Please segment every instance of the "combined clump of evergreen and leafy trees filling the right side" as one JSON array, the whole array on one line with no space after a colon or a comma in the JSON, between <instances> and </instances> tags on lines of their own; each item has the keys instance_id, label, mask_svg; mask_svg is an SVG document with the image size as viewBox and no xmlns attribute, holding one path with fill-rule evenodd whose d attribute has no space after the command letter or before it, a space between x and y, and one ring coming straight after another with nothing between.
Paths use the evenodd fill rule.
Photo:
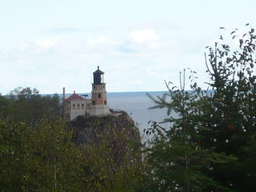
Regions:
<instances>
[{"instance_id":1,"label":"combined clump of evergreen and leafy trees filling the right side","mask_svg":"<svg viewBox=\"0 0 256 192\"><path fill-rule=\"evenodd\" d=\"M210 92L196 83L191 85L194 92L185 92L180 76L180 90L166 84L168 94L157 99L149 95L157 104L153 108L167 108L168 116L172 111L179 114L164 120L171 123L170 130L156 123L147 130L155 134L147 149L155 191L255 191L253 33L250 29L238 38L235 50L220 42L209 48L205 63ZM237 30L231 35L236 39Z\"/></svg>"}]
</instances>

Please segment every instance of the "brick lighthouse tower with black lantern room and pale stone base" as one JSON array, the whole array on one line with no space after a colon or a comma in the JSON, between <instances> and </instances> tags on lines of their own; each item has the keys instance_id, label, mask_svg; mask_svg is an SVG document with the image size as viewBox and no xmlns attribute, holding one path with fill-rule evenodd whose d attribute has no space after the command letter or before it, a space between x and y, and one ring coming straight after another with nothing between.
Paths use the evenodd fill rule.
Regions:
<instances>
[{"instance_id":1,"label":"brick lighthouse tower with black lantern room and pale stone base","mask_svg":"<svg viewBox=\"0 0 256 192\"><path fill-rule=\"evenodd\" d=\"M92 84L92 105L90 106L90 115L109 115L106 83L104 83L104 72L98 69L93 72Z\"/></svg>"}]
</instances>

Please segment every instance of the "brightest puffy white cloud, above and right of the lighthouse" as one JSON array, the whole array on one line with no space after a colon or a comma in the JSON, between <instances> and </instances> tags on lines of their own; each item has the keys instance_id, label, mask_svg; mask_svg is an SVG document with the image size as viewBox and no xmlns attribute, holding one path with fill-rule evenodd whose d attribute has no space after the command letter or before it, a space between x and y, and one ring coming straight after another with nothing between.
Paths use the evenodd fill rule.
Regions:
<instances>
[{"instance_id":1,"label":"brightest puffy white cloud, above and right of the lighthouse","mask_svg":"<svg viewBox=\"0 0 256 192\"><path fill-rule=\"evenodd\" d=\"M148 40L158 40L159 36L153 29L141 29L132 31L129 38L134 42L143 43Z\"/></svg>"}]
</instances>

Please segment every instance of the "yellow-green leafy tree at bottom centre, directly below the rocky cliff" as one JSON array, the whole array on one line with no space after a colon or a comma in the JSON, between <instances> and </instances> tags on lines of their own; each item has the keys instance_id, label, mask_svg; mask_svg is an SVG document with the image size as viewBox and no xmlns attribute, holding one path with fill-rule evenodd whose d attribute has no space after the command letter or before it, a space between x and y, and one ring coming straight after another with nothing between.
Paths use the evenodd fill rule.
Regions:
<instances>
[{"instance_id":1,"label":"yellow-green leafy tree at bottom centre, directly below the rocky cliff","mask_svg":"<svg viewBox=\"0 0 256 192\"><path fill-rule=\"evenodd\" d=\"M130 131L105 125L91 143L83 145L90 177L88 191L138 191L141 189L142 162L140 140ZM132 129L130 129L132 130Z\"/></svg>"}]
</instances>

